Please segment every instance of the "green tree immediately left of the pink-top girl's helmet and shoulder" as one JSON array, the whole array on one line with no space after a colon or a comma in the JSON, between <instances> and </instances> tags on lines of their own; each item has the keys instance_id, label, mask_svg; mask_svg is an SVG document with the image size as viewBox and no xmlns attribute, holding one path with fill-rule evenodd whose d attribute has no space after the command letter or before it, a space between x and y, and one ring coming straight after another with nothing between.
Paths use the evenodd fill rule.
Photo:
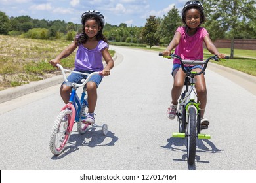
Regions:
<instances>
[{"instance_id":1,"label":"green tree immediately left of the pink-top girl's helmet and shoulder","mask_svg":"<svg viewBox=\"0 0 256 183\"><path fill-rule=\"evenodd\" d=\"M156 32L156 35L160 37L160 42L163 44L169 44L171 39L173 39L173 35L175 34L177 27L181 25L182 22L179 10L173 7L168 12L167 16L163 16L163 20L161 20L158 31Z\"/></svg>"}]
</instances>

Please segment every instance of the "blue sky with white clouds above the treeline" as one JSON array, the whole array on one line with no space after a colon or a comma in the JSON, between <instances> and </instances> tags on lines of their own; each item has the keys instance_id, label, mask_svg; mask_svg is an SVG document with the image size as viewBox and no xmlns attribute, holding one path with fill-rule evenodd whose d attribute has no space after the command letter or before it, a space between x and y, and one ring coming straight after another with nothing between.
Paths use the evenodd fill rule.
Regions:
<instances>
[{"instance_id":1,"label":"blue sky with white clouds above the treeline","mask_svg":"<svg viewBox=\"0 0 256 183\"><path fill-rule=\"evenodd\" d=\"M166 15L173 6L179 9L188 0L0 0L0 11L7 16L28 15L39 20L64 20L80 24L81 14L95 9L112 25L126 23L142 27L150 15Z\"/></svg>"}]
</instances>

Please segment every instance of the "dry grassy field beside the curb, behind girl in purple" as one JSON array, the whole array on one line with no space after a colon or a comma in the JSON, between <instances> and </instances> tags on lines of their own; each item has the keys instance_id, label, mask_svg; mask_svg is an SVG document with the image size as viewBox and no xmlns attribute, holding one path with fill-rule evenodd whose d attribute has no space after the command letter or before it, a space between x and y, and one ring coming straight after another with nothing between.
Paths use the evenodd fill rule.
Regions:
<instances>
[{"instance_id":1,"label":"dry grassy field beside the curb, behind girl in purple","mask_svg":"<svg viewBox=\"0 0 256 183\"><path fill-rule=\"evenodd\" d=\"M59 73L49 64L71 41L24 39L0 35L0 90L43 80ZM114 56L114 50L110 55ZM75 52L62 59L63 67L74 67Z\"/></svg>"}]
</instances>

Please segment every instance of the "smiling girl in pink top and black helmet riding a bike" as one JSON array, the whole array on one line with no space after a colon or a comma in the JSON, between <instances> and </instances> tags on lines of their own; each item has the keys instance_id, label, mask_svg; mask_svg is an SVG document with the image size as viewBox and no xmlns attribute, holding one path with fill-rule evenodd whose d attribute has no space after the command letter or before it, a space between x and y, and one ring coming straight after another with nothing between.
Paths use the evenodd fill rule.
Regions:
<instances>
[{"instance_id":1,"label":"smiling girl in pink top and black helmet riding a bike","mask_svg":"<svg viewBox=\"0 0 256 183\"><path fill-rule=\"evenodd\" d=\"M203 5L200 1L188 1L181 11L182 22L185 27L179 27L175 32L173 40L170 42L167 49L163 52L163 55L170 55L175 48L175 54L181 56L182 59L198 60L203 59L203 42L211 54L215 54L218 58L224 58L224 54L220 54L211 42L207 30L199 27L205 21L205 14ZM201 66L191 67L193 71L200 72ZM174 78L173 88L171 90L171 105L167 110L167 116L170 119L174 119L177 111L177 104L179 96L181 95L182 88L184 86L185 73L181 69L181 63L178 59L173 60ZM198 94L198 100L200 101L201 108L201 128L207 129L209 120L203 118L205 107L207 103L207 90L205 84L204 75L195 76L196 78L196 92Z\"/></svg>"}]
</instances>

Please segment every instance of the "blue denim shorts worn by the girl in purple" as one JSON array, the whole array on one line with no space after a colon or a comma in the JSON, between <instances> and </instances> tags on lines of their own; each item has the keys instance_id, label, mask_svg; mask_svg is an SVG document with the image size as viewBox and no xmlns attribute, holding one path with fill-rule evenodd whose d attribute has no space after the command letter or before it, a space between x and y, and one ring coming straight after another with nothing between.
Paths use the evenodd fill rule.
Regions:
<instances>
[{"instance_id":1,"label":"blue denim shorts worn by the girl in purple","mask_svg":"<svg viewBox=\"0 0 256 183\"><path fill-rule=\"evenodd\" d=\"M91 74L93 73L94 71L78 71L78 72L81 72L81 73L87 73L87 74ZM67 86L72 86L72 83L75 82L77 84L81 84L81 80L82 79L86 79L87 78L87 75L81 75L79 73L71 73L69 76L68 76L68 83L67 82L63 82L62 84L66 84ZM100 84L100 82L102 81L102 78L103 76L100 76L100 75L93 75L89 81L91 82L95 82L97 88L98 88L98 85Z\"/></svg>"}]
</instances>

